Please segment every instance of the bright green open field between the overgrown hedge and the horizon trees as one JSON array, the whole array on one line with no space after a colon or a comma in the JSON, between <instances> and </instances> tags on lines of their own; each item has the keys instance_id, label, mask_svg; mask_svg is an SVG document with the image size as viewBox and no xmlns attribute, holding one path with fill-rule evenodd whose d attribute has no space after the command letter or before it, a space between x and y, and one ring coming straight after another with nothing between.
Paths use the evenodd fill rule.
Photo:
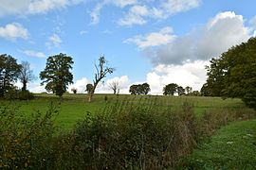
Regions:
<instances>
[{"instance_id":1,"label":"bright green open field between the overgrown hedge and the horizon trees","mask_svg":"<svg viewBox=\"0 0 256 170\"><path fill-rule=\"evenodd\" d=\"M105 100L107 96L107 100ZM96 112L103 109L111 103L119 101L129 101L132 103L145 103L150 105L152 101L156 100L160 108L170 108L176 110L182 108L184 101L192 104L196 115L202 115L207 111L221 111L221 110L243 110L247 111L244 103L237 98L223 100L220 97L198 97L198 96L139 96L139 95L113 95L113 94L95 94L94 101L88 103L87 94L64 94L60 100L55 94L35 94L35 99L28 101L0 101L0 105L11 105L18 107L24 114L31 114L36 111L42 113L46 112L50 103L59 106L59 115L56 117L56 124L71 129L78 120L86 116L86 113ZM60 105L59 105L60 104Z\"/></svg>"}]
</instances>

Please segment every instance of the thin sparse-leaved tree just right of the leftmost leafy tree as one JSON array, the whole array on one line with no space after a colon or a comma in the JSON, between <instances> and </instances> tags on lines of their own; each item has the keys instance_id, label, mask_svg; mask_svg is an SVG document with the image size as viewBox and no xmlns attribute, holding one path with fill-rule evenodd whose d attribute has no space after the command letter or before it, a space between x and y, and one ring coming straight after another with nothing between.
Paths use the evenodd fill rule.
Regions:
<instances>
[{"instance_id":1,"label":"thin sparse-leaved tree just right of the leftmost leafy tree","mask_svg":"<svg viewBox=\"0 0 256 170\"><path fill-rule=\"evenodd\" d=\"M30 69L30 64L27 61L22 61L20 68L19 79L22 82L22 91L27 91L27 83L33 80L35 76L33 75L32 70Z\"/></svg>"}]
</instances>

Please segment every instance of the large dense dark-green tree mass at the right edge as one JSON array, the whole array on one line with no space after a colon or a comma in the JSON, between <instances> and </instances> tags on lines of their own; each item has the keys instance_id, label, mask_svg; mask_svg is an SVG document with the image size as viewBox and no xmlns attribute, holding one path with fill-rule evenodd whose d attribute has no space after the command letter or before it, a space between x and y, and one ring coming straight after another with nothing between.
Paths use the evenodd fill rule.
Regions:
<instances>
[{"instance_id":1,"label":"large dense dark-green tree mass at the right edge","mask_svg":"<svg viewBox=\"0 0 256 170\"><path fill-rule=\"evenodd\" d=\"M211 59L207 90L210 95L239 97L256 110L256 38L233 46L219 59Z\"/></svg>"}]
</instances>

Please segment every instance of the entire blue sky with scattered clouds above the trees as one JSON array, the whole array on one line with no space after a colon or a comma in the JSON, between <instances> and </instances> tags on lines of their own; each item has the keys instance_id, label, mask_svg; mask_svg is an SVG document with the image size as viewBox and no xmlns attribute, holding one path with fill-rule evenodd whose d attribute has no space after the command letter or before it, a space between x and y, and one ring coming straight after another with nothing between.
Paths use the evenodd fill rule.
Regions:
<instances>
[{"instance_id":1,"label":"entire blue sky with scattered clouds above the trees","mask_svg":"<svg viewBox=\"0 0 256 170\"><path fill-rule=\"evenodd\" d=\"M49 56L73 58L74 83L85 93L101 55L116 71L96 93L147 82L151 94L177 83L200 90L206 65L256 36L255 0L0 0L0 54L28 61L35 76ZM46 92L37 77L33 93ZM20 83L17 83L20 86Z\"/></svg>"}]
</instances>

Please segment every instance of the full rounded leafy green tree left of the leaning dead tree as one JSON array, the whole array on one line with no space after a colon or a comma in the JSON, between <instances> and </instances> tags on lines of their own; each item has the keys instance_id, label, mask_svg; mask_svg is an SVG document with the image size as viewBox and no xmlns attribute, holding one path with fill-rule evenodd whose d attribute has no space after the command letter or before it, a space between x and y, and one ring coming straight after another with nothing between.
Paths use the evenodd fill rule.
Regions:
<instances>
[{"instance_id":1,"label":"full rounded leafy green tree left of the leaning dead tree","mask_svg":"<svg viewBox=\"0 0 256 170\"><path fill-rule=\"evenodd\" d=\"M43 80L41 84L46 83L47 92L63 96L68 84L73 83L73 75L69 71L73 63L72 58L63 53L48 57L46 68L40 73L40 78Z\"/></svg>"}]
</instances>

